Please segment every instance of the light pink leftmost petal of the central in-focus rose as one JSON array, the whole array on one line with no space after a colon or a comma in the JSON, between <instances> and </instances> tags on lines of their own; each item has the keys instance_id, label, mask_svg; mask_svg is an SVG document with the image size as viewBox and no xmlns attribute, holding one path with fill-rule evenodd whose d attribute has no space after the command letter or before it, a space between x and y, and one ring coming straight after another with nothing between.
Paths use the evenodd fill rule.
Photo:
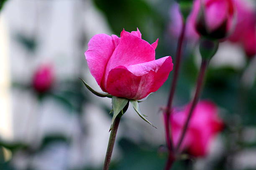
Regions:
<instances>
[{"instance_id":1,"label":"light pink leftmost petal of the central in-focus rose","mask_svg":"<svg viewBox=\"0 0 256 170\"><path fill-rule=\"evenodd\" d=\"M117 36L111 37L106 34L97 34L91 38L88 43L88 50L84 52L89 70L98 85L100 85L105 67L113 54L116 43L118 43Z\"/></svg>"}]
</instances>

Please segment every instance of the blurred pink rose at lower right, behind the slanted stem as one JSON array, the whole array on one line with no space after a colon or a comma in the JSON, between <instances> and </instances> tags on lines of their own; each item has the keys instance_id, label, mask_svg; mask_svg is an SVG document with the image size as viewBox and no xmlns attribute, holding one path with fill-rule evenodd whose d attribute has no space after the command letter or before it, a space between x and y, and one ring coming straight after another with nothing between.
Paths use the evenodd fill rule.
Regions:
<instances>
[{"instance_id":1,"label":"blurred pink rose at lower right, behind the slanted stem","mask_svg":"<svg viewBox=\"0 0 256 170\"><path fill-rule=\"evenodd\" d=\"M175 145L179 140L189 107L190 105L186 105L182 110L176 110L171 115L170 122ZM195 157L206 156L210 142L223 127L224 124L218 117L217 106L210 101L202 100L198 102L183 140L182 150Z\"/></svg>"}]
</instances>

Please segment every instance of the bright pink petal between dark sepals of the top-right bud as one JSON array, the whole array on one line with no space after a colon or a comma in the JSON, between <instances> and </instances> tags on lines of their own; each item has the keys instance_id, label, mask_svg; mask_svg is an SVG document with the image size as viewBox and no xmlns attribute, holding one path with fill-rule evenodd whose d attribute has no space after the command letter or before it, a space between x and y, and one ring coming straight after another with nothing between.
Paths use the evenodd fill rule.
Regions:
<instances>
[{"instance_id":1,"label":"bright pink petal between dark sepals of the top-right bud","mask_svg":"<svg viewBox=\"0 0 256 170\"><path fill-rule=\"evenodd\" d=\"M205 4L206 24L209 31L218 28L228 19L228 3L226 0L208 0Z\"/></svg>"}]
</instances>

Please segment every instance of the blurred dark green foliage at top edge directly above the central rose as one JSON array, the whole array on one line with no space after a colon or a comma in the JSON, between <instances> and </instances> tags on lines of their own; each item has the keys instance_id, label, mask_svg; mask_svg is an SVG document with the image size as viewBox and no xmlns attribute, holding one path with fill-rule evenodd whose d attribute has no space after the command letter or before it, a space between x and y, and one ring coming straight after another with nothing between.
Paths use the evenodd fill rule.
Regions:
<instances>
[{"instance_id":1,"label":"blurred dark green foliage at top edge directly above the central rose","mask_svg":"<svg viewBox=\"0 0 256 170\"><path fill-rule=\"evenodd\" d=\"M115 34L120 35L123 28L127 31L139 30L146 40L154 41L164 30L164 19L155 7L144 0L93 0L105 14ZM167 17L166 17L167 18ZM158 34L158 35L157 35Z\"/></svg>"}]
</instances>

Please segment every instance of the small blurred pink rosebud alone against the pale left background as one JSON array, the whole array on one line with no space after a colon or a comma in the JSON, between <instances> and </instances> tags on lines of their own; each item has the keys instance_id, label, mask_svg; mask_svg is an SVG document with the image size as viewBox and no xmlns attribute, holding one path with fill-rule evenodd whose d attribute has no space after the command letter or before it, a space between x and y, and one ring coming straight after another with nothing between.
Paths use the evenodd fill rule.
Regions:
<instances>
[{"instance_id":1,"label":"small blurred pink rosebud alone against the pale left background","mask_svg":"<svg viewBox=\"0 0 256 170\"><path fill-rule=\"evenodd\" d=\"M40 65L33 75L33 87L40 93L49 90L53 81L54 74L51 65Z\"/></svg>"}]
</instances>

